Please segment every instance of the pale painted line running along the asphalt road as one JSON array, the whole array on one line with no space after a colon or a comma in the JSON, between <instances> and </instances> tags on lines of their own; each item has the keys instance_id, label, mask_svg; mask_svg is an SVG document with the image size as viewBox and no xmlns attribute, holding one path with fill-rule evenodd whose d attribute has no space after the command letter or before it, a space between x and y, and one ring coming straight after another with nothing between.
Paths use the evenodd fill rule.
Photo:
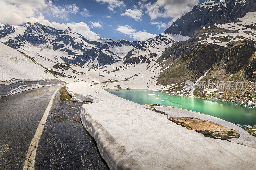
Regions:
<instances>
[{"instance_id":1,"label":"pale painted line running along the asphalt road","mask_svg":"<svg viewBox=\"0 0 256 170\"><path fill-rule=\"evenodd\" d=\"M61 87L59 87L55 92L54 94L52 95L52 98L44 112L44 115L41 119L41 121L39 122L39 125L36 129L36 132L35 132L35 135L29 145L29 148L28 148L28 152L27 152L27 156L26 156L26 159L25 159L25 163L24 163L24 166L23 166L23 170L34 170L35 169L35 158L36 158L36 149L37 149L37 146L38 146L38 142L39 142L39 139L41 137L41 134L43 132L43 129L44 129L44 124L46 122L46 119L51 111L51 107L52 107L52 102L53 102L53 99L55 97L55 94L57 93L57 91L60 89Z\"/></svg>"}]
</instances>

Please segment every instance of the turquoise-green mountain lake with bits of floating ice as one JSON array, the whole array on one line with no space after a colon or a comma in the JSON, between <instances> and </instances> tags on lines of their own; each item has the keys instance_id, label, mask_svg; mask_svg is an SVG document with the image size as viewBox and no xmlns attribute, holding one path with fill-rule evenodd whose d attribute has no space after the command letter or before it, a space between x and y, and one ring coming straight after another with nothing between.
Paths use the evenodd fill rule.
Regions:
<instances>
[{"instance_id":1,"label":"turquoise-green mountain lake with bits of floating ice","mask_svg":"<svg viewBox=\"0 0 256 170\"><path fill-rule=\"evenodd\" d=\"M144 89L105 90L138 104L159 103L161 105L174 106L212 115L231 123L250 126L256 125L256 108L240 103L173 96Z\"/></svg>"}]
</instances>

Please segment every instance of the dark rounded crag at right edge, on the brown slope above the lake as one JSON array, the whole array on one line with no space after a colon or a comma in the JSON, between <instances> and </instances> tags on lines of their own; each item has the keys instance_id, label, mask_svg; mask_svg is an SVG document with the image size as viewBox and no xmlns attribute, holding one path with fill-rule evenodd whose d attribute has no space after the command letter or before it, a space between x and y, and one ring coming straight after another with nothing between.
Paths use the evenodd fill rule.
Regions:
<instances>
[{"instance_id":1,"label":"dark rounded crag at right edge, on the brown slope above the lake","mask_svg":"<svg viewBox=\"0 0 256 170\"><path fill-rule=\"evenodd\" d=\"M226 73L234 74L249 63L248 59L255 52L254 44L253 41L233 41L227 44L221 62Z\"/></svg>"}]
</instances>

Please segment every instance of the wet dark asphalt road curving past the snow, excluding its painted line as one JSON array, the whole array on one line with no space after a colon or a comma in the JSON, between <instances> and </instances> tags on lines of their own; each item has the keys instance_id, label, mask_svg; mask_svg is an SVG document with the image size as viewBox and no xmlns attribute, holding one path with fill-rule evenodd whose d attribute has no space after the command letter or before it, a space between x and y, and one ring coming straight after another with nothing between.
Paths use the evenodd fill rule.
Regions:
<instances>
[{"instance_id":1,"label":"wet dark asphalt road curving past the snow, excluding its painted line","mask_svg":"<svg viewBox=\"0 0 256 170\"><path fill-rule=\"evenodd\" d=\"M36 128L53 93L61 86L40 87L0 98L1 170L23 168ZM39 140L35 169L107 169L95 141L79 122L81 104L71 102L68 96L65 100L60 99L59 90ZM67 111L70 114L63 119L60 115Z\"/></svg>"}]
</instances>

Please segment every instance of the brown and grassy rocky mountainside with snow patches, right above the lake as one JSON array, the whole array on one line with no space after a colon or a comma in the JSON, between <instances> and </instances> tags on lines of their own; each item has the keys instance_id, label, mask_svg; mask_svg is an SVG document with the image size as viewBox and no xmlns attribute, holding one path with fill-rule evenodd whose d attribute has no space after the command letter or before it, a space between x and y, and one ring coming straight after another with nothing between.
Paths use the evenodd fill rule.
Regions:
<instances>
[{"instance_id":1,"label":"brown and grassy rocky mountainside with snow patches, right above the lake","mask_svg":"<svg viewBox=\"0 0 256 170\"><path fill-rule=\"evenodd\" d=\"M163 68L157 84L172 94L199 98L255 103L256 12L236 22L211 23L195 31L186 41L175 42L156 60ZM194 83L192 91L184 82ZM198 82L214 82L214 88L198 88ZM243 89L217 87L217 82L243 82Z\"/></svg>"}]
</instances>

